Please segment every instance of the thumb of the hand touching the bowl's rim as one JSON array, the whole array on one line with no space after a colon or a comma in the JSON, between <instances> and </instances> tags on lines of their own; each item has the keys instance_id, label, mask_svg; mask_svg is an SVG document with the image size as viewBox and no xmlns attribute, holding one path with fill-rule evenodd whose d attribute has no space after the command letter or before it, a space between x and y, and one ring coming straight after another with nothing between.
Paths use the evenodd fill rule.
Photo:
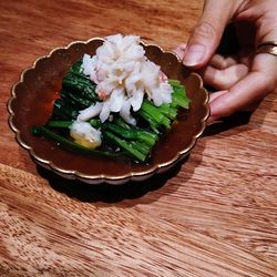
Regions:
<instances>
[{"instance_id":1,"label":"thumb of the hand touching the bowl's rim","mask_svg":"<svg viewBox=\"0 0 277 277\"><path fill-rule=\"evenodd\" d=\"M202 17L187 41L183 63L195 69L205 65L215 53L225 27L237 7L230 0L206 0Z\"/></svg>"}]
</instances>

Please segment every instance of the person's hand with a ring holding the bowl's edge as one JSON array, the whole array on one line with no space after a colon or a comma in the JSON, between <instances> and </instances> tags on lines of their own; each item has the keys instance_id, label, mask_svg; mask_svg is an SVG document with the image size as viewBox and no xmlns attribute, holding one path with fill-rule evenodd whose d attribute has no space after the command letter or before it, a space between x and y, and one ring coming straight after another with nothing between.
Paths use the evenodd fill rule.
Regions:
<instances>
[{"instance_id":1,"label":"person's hand with a ring holding the bowl's edge","mask_svg":"<svg viewBox=\"0 0 277 277\"><path fill-rule=\"evenodd\" d=\"M233 22L240 50L216 53L226 25ZM209 123L237 111L254 110L275 90L277 57L257 53L266 41L277 41L276 0L206 0L187 43L175 52L186 66L199 71L211 94Z\"/></svg>"}]
</instances>

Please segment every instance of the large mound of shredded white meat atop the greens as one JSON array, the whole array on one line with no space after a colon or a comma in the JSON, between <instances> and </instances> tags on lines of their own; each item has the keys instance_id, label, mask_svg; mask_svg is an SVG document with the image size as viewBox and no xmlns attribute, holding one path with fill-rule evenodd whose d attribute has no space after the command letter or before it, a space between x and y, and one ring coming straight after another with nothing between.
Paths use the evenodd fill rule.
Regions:
<instances>
[{"instance_id":1,"label":"large mound of shredded white meat atop the greens","mask_svg":"<svg viewBox=\"0 0 277 277\"><path fill-rule=\"evenodd\" d=\"M172 101L166 75L146 58L137 35L106 37L95 55L83 55L82 70L96 84L100 101L81 111L78 120L99 115L105 122L116 112L135 125L131 111L141 109L145 94L156 106Z\"/></svg>"}]
</instances>

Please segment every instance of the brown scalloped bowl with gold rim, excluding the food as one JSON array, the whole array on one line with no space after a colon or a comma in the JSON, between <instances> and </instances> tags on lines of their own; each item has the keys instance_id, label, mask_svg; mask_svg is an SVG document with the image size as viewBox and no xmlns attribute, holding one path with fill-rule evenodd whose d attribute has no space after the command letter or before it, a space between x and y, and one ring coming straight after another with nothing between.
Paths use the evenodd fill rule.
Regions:
<instances>
[{"instance_id":1,"label":"brown scalloped bowl with gold rim, excluding the food","mask_svg":"<svg viewBox=\"0 0 277 277\"><path fill-rule=\"evenodd\" d=\"M12 88L8 103L9 124L19 144L29 151L34 162L66 178L78 178L90 184L143 181L170 170L191 152L205 129L209 113L208 93L199 75L191 73L174 53L163 51L157 45L142 42L147 58L160 64L168 78L178 79L192 102L189 110L179 112L178 124L158 142L150 164L134 164L127 158L81 156L60 148L53 141L30 133L32 126L48 122L53 100L58 96L62 78L69 68L84 53L95 53L102 43L102 39L94 38L54 49L22 72L20 81Z\"/></svg>"}]
</instances>

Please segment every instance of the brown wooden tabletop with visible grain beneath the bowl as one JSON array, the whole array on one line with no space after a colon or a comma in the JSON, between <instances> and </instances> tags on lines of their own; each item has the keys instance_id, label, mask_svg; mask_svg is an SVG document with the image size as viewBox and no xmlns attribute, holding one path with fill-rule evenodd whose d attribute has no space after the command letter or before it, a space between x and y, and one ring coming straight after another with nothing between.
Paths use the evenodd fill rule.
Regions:
<instances>
[{"instance_id":1,"label":"brown wooden tabletop with visible grain beneath the bowl","mask_svg":"<svg viewBox=\"0 0 277 277\"><path fill-rule=\"evenodd\" d=\"M186 41L203 1L0 1L0 276L277 276L276 91L165 176L120 187L35 166L8 126L21 71L74 40Z\"/></svg>"}]
</instances>

